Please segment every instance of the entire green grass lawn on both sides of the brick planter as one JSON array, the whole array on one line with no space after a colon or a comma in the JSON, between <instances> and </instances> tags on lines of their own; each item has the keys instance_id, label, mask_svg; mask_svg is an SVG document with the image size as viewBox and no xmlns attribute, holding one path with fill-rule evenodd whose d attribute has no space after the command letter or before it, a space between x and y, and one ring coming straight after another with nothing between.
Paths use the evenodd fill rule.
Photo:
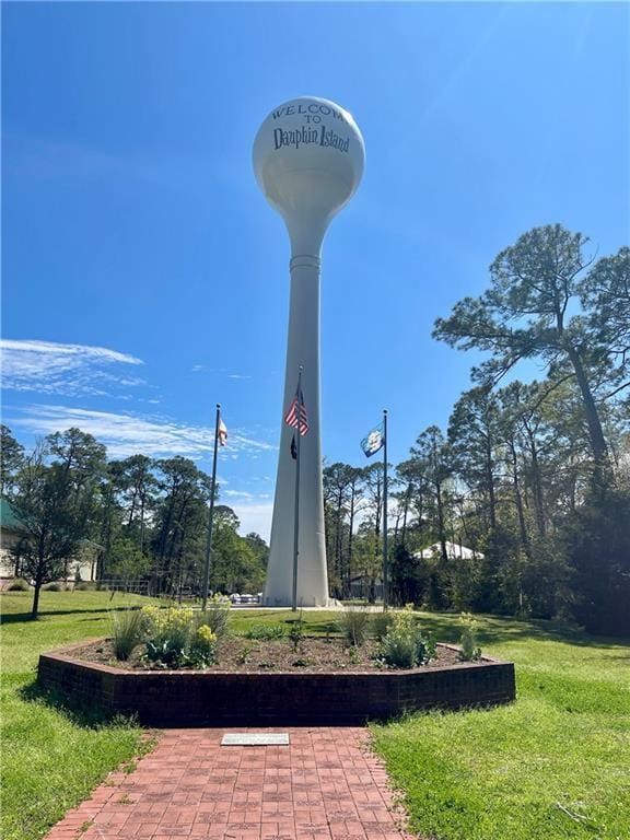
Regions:
<instances>
[{"instance_id":1,"label":"entire green grass lawn on both sides of the brick planter","mask_svg":"<svg viewBox=\"0 0 630 840\"><path fill-rule=\"evenodd\" d=\"M33 698L42 651L108 633L108 609L139 597L43 593L1 596L4 840L34 840L141 748L128 724L86 725ZM231 625L292 620L290 610L234 610ZM305 611L308 632L335 630L335 612ZM420 615L441 641L456 618ZM479 618L486 653L516 663L518 700L488 711L419 714L373 725L411 816L439 840L630 838L630 646L557 622Z\"/></svg>"}]
</instances>

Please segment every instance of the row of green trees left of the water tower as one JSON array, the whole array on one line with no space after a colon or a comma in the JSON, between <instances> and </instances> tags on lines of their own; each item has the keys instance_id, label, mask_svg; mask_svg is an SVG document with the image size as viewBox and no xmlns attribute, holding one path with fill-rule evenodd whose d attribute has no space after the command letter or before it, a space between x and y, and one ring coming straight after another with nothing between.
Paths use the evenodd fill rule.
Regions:
<instances>
[{"instance_id":1,"label":"row of green trees left of the water tower","mask_svg":"<svg viewBox=\"0 0 630 840\"><path fill-rule=\"evenodd\" d=\"M14 572L39 592L91 561L98 581L142 579L153 594L196 594L208 538L210 477L180 456L107 459L106 447L80 429L56 432L32 452L2 425L1 492L19 524ZM257 592L268 548L241 537L226 505L214 506L210 586Z\"/></svg>"}]
</instances>

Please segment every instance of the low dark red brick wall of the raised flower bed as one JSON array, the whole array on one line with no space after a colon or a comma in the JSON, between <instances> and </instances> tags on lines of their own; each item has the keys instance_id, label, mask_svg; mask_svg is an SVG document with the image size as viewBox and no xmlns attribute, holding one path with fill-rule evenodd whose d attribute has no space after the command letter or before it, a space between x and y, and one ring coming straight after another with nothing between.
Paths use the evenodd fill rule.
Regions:
<instances>
[{"instance_id":1,"label":"low dark red brick wall of the raised flower bed","mask_svg":"<svg viewBox=\"0 0 630 840\"><path fill-rule=\"evenodd\" d=\"M43 654L39 686L70 705L137 714L151 726L355 725L422 709L506 703L516 695L514 665L488 657L370 674L142 672L73 658L81 646Z\"/></svg>"}]
</instances>

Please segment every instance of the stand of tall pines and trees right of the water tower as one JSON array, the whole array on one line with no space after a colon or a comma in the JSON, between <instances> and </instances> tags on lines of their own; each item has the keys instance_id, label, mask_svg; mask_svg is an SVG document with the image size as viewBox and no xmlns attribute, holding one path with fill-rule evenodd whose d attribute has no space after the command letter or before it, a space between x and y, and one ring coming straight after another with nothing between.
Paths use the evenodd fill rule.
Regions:
<instances>
[{"instance_id":1,"label":"stand of tall pines and trees right of the water tower","mask_svg":"<svg viewBox=\"0 0 630 840\"><path fill-rule=\"evenodd\" d=\"M560 225L534 229L499 254L479 298L435 322L434 338L487 358L447 428L423 430L394 468L398 603L630 633L630 249L595 259L586 246ZM542 377L515 378L524 360ZM361 580L370 597L382 467L332 464L324 480L332 587L347 597Z\"/></svg>"}]
</instances>

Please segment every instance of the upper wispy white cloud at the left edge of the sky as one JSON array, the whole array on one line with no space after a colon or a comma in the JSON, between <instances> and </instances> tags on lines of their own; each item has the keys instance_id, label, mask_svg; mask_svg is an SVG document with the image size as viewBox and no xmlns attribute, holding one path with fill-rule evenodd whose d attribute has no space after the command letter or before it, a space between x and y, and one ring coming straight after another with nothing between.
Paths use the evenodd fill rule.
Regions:
<instances>
[{"instance_id":1,"label":"upper wispy white cloud at the left edge of the sky","mask_svg":"<svg viewBox=\"0 0 630 840\"><path fill-rule=\"evenodd\" d=\"M2 339L2 385L11 390L40 394L110 395L117 387L142 385L143 380L104 369L142 364L141 359L105 347L52 341Z\"/></svg>"}]
</instances>

